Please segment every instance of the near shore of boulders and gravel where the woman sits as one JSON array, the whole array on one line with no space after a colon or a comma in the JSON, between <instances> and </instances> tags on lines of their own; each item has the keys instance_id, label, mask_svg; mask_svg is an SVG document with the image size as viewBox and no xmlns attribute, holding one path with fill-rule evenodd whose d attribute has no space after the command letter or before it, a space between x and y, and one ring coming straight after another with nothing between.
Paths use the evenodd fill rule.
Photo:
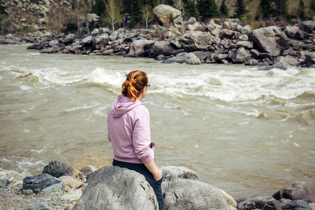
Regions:
<instances>
[{"instance_id":1,"label":"near shore of boulders and gravel where the woman sits","mask_svg":"<svg viewBox=\"0 0 315 210\"><path fill-rule=\"evenodd\" d=\"M315 209L315 189L297 182L268 194L234 199L224 190L199 180L185 167L167 166L162 188L171 209ZM0 168L0 209L157 209L152 188L145 178L117 166L101 169L88 165L80 171L51 161L42 174L25 176ZM176 196L176 199L174 199ZM136 200L136 202L134 201ZM130 207L131 206L131 207Z\"/></svg>"}]
</instances>

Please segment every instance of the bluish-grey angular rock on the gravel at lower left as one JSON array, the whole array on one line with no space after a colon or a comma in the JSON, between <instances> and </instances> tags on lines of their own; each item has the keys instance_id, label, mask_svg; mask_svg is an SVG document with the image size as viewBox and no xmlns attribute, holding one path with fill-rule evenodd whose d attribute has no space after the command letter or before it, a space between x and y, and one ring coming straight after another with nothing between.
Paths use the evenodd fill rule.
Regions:
<instances>
[{"instance_id":1,"label":"bluish-grey angular rock on the gravel at lower left","mask_svg":"<svg viewBox=\"0 0 315 210\"><path fill-rule=\"evenodd\" d=\"M36 176L27 176L23 180L22 193L29 195L31 193L51 193L63 191L64 184L50 174L39 174Z\"/></svg>"}]
</instances>

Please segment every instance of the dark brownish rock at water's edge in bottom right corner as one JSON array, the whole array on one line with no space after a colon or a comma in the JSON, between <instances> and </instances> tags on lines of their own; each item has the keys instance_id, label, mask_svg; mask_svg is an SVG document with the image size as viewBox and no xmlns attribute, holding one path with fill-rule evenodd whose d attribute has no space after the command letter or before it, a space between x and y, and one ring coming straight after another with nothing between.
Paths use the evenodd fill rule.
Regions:
<instances>
[{"instance_id":1,"label":"dark brownish rock at water's edge in bottom right corner","mask_svg":"<svg viewBox=\"0 0 315 210\"><path fill-rule=\"evenodd\" d=\"M308 203L315 202L315 189L306 182L295 182L287 188L281 189L272 195L275 199L286 198L290 200L304 200Z\"/></svg>"}]
</instances>

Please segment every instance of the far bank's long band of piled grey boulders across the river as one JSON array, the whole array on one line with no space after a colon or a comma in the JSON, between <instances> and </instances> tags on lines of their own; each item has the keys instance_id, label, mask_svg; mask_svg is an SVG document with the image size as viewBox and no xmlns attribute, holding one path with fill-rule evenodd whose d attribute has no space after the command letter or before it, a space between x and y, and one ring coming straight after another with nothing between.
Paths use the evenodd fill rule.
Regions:
<instances>
[{"instance_id":1,"label":"far bank's long band of piled grey boulders across the river","mask_svg":"<svg viewBox=\"0 0 315 210\"><path fill-rule=\"evenodd\" d=\"M220 63L265 66L281 69L290 66L315 67L315 17L294 26L270 26L252 30L238 19L207 25L195 18L178 27L153 25L151 30L120 28L94 29L83 38L75 34L33 34L27 38L12 35L0 44L32 43L28 49L41 53L121 55L148 57L164 63Z\"/></svg>"}]
</instances>

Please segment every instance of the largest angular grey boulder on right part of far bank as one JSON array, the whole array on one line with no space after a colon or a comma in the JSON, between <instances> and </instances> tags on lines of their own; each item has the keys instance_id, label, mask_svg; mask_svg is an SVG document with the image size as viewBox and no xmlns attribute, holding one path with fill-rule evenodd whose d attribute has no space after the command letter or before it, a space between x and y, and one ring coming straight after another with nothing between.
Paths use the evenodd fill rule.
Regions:
<instances>
[{"instance_id":1,"label":"largest angular grey boulder on right part of far bank","mask_svg":"<svg viewBox=\"0 0 315 210\"><path fill-rule=\"evenodd\" d=\"M289 48L289 39L279 27L270 26L256 29L249 34L249 40L262 51L272 57L280 55L281 50Z\"/></svg>"}]
</instances>

